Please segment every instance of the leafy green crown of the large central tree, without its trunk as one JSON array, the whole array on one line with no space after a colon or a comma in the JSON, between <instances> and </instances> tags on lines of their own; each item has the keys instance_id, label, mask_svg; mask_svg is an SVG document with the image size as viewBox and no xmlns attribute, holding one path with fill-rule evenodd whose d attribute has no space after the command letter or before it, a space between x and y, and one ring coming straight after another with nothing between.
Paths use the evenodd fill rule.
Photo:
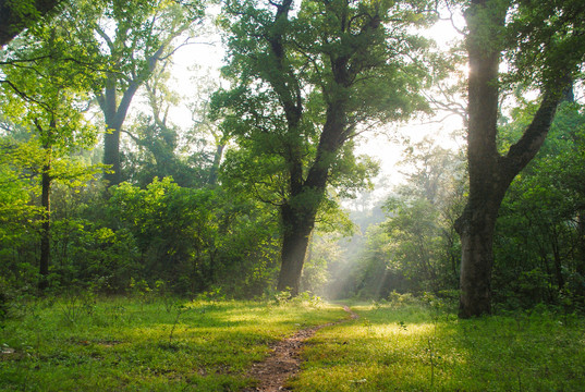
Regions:
<instances>
[{"instance_id":1,"label":"leafy green crown of the large central tree, without its trunk","mask_svg":"<svg viewBox=\"0 0 585 392\"><path fill-rule=\"evenodd\" d=\"M424 109L425 105L416 95L416 89L424 82L395 75L401 73L424 78L421 64L406 58L416 58L426 42L414 36L401 40L398 36L402 32L397 32L397 37L390 36L383 28L367 32L367 15L379 17L380 23L392 20L397 23L397 30L403 25L428 23L428 17L417 5L397 4L392 8L385 3L368 9L361 4L342 10L342 2L330 7L319 1L303 2L297 16L290 21L279 20L273 23L273 30L267 32L275 36L275 40L282 39L285 59L279 60L270 58L269 36L256 39L251 35L251 32L268 28L272 19L270 10L254 2L228 4L222 25L231 33L226 38L231 64L223 69L223 73L234 79L236 87L231 91L220 90L214 98L217 109L229 108L223 113L223 126L237 137L240 147L228 156L228 175L234 176L241 186L251 188L259 199L272 204L281 205L291 197L308 198L308 195L291 195L288 172L291 166L301 164L301 180L306 179L316 159L320 159L316 154L322 137L327 105L337 94L349 100L348 135L340 136L348 140L358 133L355 127L368 126L376 121L401 120L414 110ZM283 3L281 7L284 10L289 5ZM328 7L330 9L326 12ZM348 32L340 30L336 23L343 12L355 14L355 25ZM359 26L363 34L358 34ZM383 42L383 37L393 46ZM366 42L367 48L364 46L362 51L356 50ZM337 85L339 81L336 82L331 68L334 59L344 59L345 52L355 81L341 86ZM383 65L388 59L392 63ZM279 61L284 63L278 65ZM402 93L398 94L398 90ZM298 91L310 94L298 95ZM296 110L303 112L298 126L288 123L291 115L287 113L288 99L292 100L293 96L300 100L295 103L300 105ZM367 157L354 156L353 147L353 143L346 143L334 151L324 151L332 157L327 158L328 163L318 163L330 168L330 184L345 196L364 187L376 168ZM291 156L291 149L303 157L301 162L293 162L296 158Z\"/></svg>"}]
</instances>

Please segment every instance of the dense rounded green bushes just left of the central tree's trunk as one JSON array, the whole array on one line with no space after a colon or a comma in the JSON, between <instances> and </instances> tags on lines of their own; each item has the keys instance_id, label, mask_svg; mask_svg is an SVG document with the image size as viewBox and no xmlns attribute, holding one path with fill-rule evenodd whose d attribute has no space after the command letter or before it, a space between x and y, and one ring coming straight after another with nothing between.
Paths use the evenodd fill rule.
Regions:
<instances>
[{"instance_id":1,"label":"dense rounded green bushes just left of the central tree's trunk","mask_svg":"<svg viewBox=\"0 0 585 392\"><path fill-rule=\"evenodd\" d=\"M243 213L243 207L230 205L216 191L182 188L170 179L155 179L146 189L121 184L109 205L117 225L136 238L142 270L149 280L172 281L182 293L197 293L221 284L220 278L234 268L261 270L255 249L263 241L269 244L268 232L248 226L252 217ZM247 255L254 255L256 266L246 265ZM249 279L258 279L256 284L267 278L254 275Z\"/></svg>"}]
</instances>

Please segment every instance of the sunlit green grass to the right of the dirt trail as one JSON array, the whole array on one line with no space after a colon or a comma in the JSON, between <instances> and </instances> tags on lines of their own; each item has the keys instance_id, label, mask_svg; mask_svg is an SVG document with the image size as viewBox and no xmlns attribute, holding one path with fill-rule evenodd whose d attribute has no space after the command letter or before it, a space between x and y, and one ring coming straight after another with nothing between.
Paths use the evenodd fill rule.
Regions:
<instances>
[{"instance_id":1,"label":"sunlit green grass to the right of the dirt trail","mask_svg":"<svg viewBox=\"0 0 585 392\"><path fill-rule=\"evenodd\" d=\"M419 305L352 307L321 330L295 391L583 391L585 322L546 310L458 320Z\"/></svg>"}]
</instances>

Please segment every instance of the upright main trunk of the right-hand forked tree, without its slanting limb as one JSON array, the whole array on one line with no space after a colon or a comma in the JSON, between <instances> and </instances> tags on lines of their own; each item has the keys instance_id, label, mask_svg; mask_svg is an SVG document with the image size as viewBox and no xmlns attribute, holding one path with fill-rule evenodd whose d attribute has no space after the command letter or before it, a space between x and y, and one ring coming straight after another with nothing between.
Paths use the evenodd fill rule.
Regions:
<instances>
[{"instance_id":1,"label":"upright main trunk of the right-hand forked tree, without its slanting limb","mask_svg":"<svg viewBox=\"0 0 585 392\"><path fill-rule=\"evenodd\" d=\"M470 197L463 216L456 222L462 246L460 317L491 313L491 249L496 216L501 201L501 198L493 200L492 188L498 182L496 134L500 51L497 47L487 48L480 41L482 37L477 36L482 25L475 17L476 13L483 13L483 5L472 5L467 14ZM480 15L478 19L482 22Z\"/></svg>"}]
</instances>

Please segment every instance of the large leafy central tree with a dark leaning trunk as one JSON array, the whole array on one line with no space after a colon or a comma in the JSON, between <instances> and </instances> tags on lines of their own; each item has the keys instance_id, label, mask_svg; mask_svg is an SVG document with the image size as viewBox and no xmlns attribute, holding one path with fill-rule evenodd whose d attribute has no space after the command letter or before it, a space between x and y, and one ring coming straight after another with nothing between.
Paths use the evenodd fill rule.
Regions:
<instances>
[{"instance_id":1,"label":"large leafy central tree with a dark leaning trunk","mask_svg":"<svg viewBox=\"0 0 585 392\"><path fill-rule=\"evenodd\" d=\"M428 23L424 2L292 0L228 2L231 91L224 127L240 151L227 169L278 206L281 269L278 290L295 295L310 232L328 205L328 186L357 188L371 164L353 139L374 124L424 109L417 91L426 42L409 28Z\"/></svg>"}]
</instances>

